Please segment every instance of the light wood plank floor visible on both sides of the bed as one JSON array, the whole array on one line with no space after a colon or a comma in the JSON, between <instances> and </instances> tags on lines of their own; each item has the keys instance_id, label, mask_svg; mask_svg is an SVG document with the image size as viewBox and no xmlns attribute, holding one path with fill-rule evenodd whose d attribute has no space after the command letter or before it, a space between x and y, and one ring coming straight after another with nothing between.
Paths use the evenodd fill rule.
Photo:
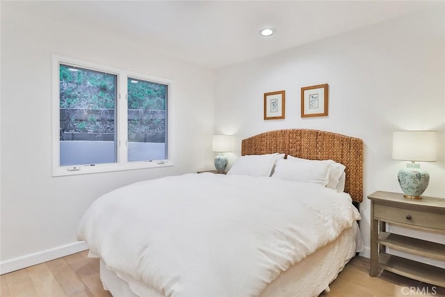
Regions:
<instances>
[{"instance_id":1,"label":"light wood plank floor visible on both sides of the bed","mask_svg":"<svg viewBox=\"0 0 445 297\"><path fill-rule=\"evenodd\" d=\"M1 297L111 296L102 288L99 260L88 251L55 259L1 275ZM330 285L323 297L442 296L445 288L416 282L384 271L380 278L369 276L369 259L355 257ZM445 275L444 275L445 277ZM412 287L412 288L411 288ZM419 289L416 289L419 288ZM411 290L411 291L410 291ZM412 291L414 290L414 291ZM415 294L414 294L415 293ZM296 296L299 297L299 296Z\"/></svg>"}]
</instances>

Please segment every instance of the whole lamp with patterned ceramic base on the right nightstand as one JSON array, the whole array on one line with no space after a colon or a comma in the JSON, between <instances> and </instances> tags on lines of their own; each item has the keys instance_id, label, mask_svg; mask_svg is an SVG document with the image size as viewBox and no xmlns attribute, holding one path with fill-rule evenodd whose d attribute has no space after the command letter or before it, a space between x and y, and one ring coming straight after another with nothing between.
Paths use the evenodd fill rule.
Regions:
<instances>
[{"instance_id":1,"label":"whole lamp with patterned ceramic base on the right nightstand","mask_svg":"<svg viewBox=\"0 0 445 297\"><path fill-rule=\"evenodd\" d=\"M392 159L411 161L398 171L403 197L421 199L430 175L415 161L437 161L437 131L396 131L392 136Z\"/></svg>"}]
</instances>

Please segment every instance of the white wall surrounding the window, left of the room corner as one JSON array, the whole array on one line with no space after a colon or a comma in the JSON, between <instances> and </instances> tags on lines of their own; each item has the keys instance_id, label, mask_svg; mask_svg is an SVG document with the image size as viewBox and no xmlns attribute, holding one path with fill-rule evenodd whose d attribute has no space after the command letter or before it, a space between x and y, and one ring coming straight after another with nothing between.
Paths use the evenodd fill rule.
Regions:
<instances>
[{"instance_id":1,"label":"white wall surrounding the window, left of the room corner","mask_svg":"<svg viewBox=\"0 0 445 297\"><path fill-rule=\"evenodd\" d=\"M86 208L113 188L211 168L214 74L135 40L59 18L27 3L1 3L1 262L70 247ZM42 3L44 5L44 3ZM54 19L53 19L54 17ZM175 166L51 177L51 55L172 80ZM38 255L35 255L37 253ZM32 254L32 255L31 255ZM20 262L20 261L19 261Z\"/></svg>"}]
</instances>

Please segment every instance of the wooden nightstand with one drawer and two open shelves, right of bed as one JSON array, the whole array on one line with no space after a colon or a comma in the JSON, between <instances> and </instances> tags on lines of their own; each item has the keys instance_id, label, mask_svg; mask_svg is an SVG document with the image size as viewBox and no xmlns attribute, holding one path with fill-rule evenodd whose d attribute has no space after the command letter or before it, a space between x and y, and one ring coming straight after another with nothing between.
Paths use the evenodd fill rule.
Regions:
<instances>
[{"instance_id":1,"label":"wooden nightstand with one drawer and two open shelves, right of bed","mask_svg":"<svg viewBox=\"0 0 445 297\"><path fill-rule=\"evenodd\" d=\"M417 230L445 233L445 199L403 198L403 194L377 191L371 200L371 268L378 276L383 269L407 278L445 287L445 269L386 253L394 248L414 255L445 261L445 245L386 231L386 223Z\"/></svg>"}]
</instances>

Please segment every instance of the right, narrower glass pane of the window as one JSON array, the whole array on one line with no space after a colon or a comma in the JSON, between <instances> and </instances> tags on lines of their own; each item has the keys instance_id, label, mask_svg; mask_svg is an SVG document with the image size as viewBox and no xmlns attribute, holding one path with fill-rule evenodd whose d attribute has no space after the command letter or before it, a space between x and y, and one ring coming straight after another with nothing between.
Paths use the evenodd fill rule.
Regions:
<instances>
[{"instance_id":1,"label":"right, narrower glass pane of the window","mask_svg":"<svg viewBox=\"0 0 445 297\"><path fill-rule=\"evenodd\" d=\"M128 79L128 161L168 159L168 86Z\"/></svg>"}]
</instances>

